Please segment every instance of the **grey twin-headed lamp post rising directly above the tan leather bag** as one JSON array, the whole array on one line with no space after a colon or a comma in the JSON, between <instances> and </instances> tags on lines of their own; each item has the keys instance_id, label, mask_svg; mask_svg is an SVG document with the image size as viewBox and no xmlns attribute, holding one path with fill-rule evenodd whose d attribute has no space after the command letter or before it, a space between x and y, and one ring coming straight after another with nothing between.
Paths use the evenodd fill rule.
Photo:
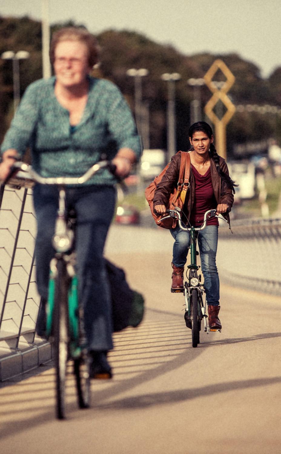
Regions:
<instances>
[{"instance_id":1,"label":"grey twin-headed lamp post rising directly above the tan leather bag","mask_svg":"<svg viewBox=\"0 0 281 454\"><path fill-rule=\"evenodd\" d=\"M168 161L176 153L176 114L175 114L175 82L181 79L179 73L164 73L161 79L168 83L168 109L167 109L167 149Z\"/></svg>"}]
</instances>

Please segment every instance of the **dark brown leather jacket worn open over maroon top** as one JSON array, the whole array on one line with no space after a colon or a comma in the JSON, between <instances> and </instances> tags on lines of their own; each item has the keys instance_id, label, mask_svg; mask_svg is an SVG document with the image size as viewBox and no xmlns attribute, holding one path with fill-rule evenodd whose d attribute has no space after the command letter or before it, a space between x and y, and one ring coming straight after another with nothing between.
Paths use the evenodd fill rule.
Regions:
<instances>
[{"instance_id":1,"label":"dark brown leather jacket worn open over maroon top","mask_svg":"<svg viewBox=\"0 0 281 454\"><path fill-rule=\"evenodd\" d=\"M187 153L187 152L186 152ZM226 165L226 161L224 158L219 156L220 158L220 167L221 170L228 175L228 168ZM165 205L168 207L169 205L169 197L172 190L177 187L179 173L180 173L180 163L181 163L181 155L176 154L172 156L171 163L169 168L167 169L165 175L160 183L158 183L154 197L153 197L153 206L156 205ZM211 159L211 180L212 186L214 190L214 196L216 198L217 205L219 203L226 203L229 207L229 211L231 211L231 207L233 205L233 194L230 188L227 187L226 183L221 180L221 177L217 173L216 164L214 163L213 159ZM194 177L192 172L190 173L190 187L188 188L186 194L186 200L184 204L184 213L186 214L187 219L189 220L190 213L194 203ZM216 208L216 207L214 207ZM224 214L224 217L230 222L229 214Z\"/></svg>"}]
</instances>

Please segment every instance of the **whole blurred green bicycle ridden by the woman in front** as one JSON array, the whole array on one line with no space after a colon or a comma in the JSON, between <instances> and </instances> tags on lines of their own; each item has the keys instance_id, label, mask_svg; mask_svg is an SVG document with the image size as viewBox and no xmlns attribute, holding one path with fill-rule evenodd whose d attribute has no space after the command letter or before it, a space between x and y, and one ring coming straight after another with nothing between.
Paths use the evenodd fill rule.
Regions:
<instances>
[{"instance_id":1,"label":"whole blurred green bicycle ridden by the woman in front","mask_svg":"<svg viewBox=\"0 0 281 454\"><path fill-rule=\"evenodd\" d=\"M16 162L7 182L14 188L34 183L57 185L59 208L52 244L55 257L50 262L49 296L46 306L46 337L53 344L56 369L56 416L65 418L65 380L68 360L74 362L78 405L90 406L90 359L86 349L83 308L79 305L75 272L75 213L65 204L65 185L89 180L101 168L114 173L115 165L101 161L80 178L43 178L29 165Z\"/></svg>"}]
</instances>

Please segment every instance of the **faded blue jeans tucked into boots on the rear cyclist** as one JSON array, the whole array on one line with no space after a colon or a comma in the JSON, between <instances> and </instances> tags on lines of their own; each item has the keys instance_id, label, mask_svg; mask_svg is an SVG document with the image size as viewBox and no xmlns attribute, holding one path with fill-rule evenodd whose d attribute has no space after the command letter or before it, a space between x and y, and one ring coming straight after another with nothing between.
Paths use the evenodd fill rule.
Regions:
<instances>
[{"instance_id":1,"label":"faded blue jeans tucked into boots on the rear cyclist","mask_svg":"<svg viewBox=\"0 0 281 454\"><path fill-rule=\"evenodd\" d=\"M173 246L173 264L185 266L190 247L190 234L179 226L170 230L175 239ZM206 226L198 234L198 246L201 259L201 269L204 276L207 304L218 306L220 300L220 281L216 267L216 250L218 243L218 226Z\"/></svg>"}]
</instances>

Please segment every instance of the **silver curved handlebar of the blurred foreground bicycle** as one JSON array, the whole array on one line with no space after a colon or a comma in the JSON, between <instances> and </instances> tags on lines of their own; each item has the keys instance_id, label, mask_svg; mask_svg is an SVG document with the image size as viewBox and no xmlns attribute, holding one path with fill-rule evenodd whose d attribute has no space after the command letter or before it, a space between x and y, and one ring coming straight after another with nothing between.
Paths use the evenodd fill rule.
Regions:
<instances>
[{"instance_id":1,"label":"silver curved handlebar of the blurred foreground bicycle","mask_svg":"<svg viewBox=\"0 0 281 454\"><path fill-rule=\"evenodd\" d=\"M84 175L81 175L80 177L41 177L39 173L35 172L33 168L25 163L22 162L15 162L13 166L11 167L11 171L8 175L8 177L5 179L3 184L9 183L9 180L15 176L15 180L19 182L19 180L24 180L25 183L23 184L24 186L31 186L30 184L26 183L28 180L30 182L34 183L40 183L40 184L82 184L88 181L91 177L95 175L96 172L98 172L101 168L108 168L109 171L114 174L116 170L115 164L112 164L111 161L100 161L98 163L95 163L92 167L90 167L87 172L84 173ZM14 175L15 174L15 175ZM14 183L12 183L14 184ZM16 184L16 183L15 183Z\"/></svg>"}]
</instances>

